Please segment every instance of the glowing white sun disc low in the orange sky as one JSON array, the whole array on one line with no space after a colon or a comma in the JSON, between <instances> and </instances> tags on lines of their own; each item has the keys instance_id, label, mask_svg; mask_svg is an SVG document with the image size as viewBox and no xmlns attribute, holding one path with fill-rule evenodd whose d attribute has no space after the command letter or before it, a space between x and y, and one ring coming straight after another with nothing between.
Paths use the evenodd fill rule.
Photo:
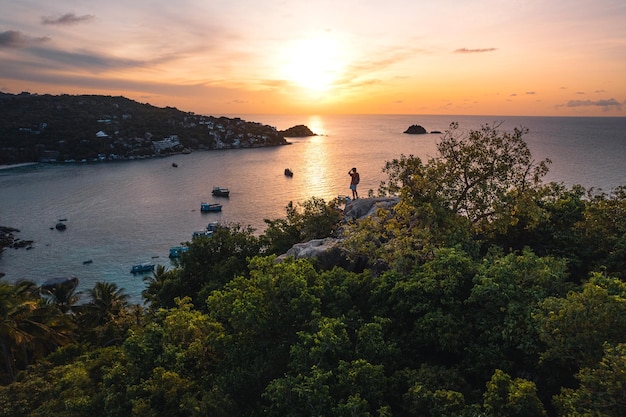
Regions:
<instances>
[{"instance_id":1,"label":"glowing white sun disc low in the orange sky","mask_svg":"<svg viewBox=\"0 0 626 417\"><path fill-rule=\"evenodd\" d=\"M340 42L328 36L289 43L281 62L281 78L311 92L332 89L345 68Z\"/></svg>"}]
</instances>

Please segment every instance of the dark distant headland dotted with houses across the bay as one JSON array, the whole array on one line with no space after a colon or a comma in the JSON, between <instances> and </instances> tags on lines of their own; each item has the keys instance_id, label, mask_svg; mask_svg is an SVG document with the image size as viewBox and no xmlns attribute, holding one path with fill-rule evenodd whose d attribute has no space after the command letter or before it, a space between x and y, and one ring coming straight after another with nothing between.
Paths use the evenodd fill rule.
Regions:
<instances>
[{"instance_id":1,"label":"dark distant headland dotted with houses across the bay","mask_svg":"<svg viewBox=\"0 0 626 417\"><path fill-rule=\"evenodd\" d=\"M121 96L0 93L0 164L132 160L285 144L272 126Z\"/></svg>"}]
</instances>

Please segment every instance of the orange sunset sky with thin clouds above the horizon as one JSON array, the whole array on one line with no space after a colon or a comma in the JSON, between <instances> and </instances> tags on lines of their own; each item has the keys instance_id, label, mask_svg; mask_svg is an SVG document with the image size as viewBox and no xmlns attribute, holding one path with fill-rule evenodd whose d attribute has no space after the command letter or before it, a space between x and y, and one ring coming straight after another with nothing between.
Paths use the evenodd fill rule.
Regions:
<instances>
[{"instance_id":1,"label":"orange sunset sky with thin clouds above the horizon","mask_svg":"<svg viewBox=\"0 0 626 417\"><path fill-rule=\"evenodd\" d=\"M0 0L0 91L202 115L626 116L624 0Z\"/></svg>"}]
</instances>

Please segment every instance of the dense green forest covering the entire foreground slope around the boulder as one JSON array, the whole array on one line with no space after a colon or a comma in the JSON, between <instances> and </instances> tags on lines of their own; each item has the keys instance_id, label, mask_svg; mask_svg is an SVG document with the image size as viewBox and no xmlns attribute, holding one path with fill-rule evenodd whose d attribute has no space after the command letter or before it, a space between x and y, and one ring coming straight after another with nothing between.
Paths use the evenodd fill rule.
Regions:
<instances>
[{"instance_id":1,"label":"dense green forest covering the entire foreground slope around the boulder","mask_svg":"<svg viewBox=\"0 0 626 417\"><path fill-rule=\"evenodd\" d=\"M372 217L222 225L142 306L0 282L0 416L626 415L626 189L543 183L525 132L452 124ZM325 237L351 269L277 260Z\"/></svg>"}]
</instances>

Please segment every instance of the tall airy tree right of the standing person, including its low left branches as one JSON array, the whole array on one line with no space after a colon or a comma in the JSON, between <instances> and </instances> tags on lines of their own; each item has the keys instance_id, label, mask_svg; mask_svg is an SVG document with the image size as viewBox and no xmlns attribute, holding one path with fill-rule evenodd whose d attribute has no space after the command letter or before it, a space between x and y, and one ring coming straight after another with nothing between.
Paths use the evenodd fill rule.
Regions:
<instances>
[{"instance_id":1,"label":"tall airy tree right of the standing person, including its low left branches","mask_svg":"<svg viewBox=\"0 0 626 417\"><path fill-rule=\"evenodd\" d=\"M525 128L501 132L501 124L484 125L467 134L452 123L437 144L438 155L423 164L414 157L388 162L383 193L400 192L411 204L430 202L470 220L481 230L540 184L548 159L536 163L523 135Z\"/></svg>"}]
</instances>

